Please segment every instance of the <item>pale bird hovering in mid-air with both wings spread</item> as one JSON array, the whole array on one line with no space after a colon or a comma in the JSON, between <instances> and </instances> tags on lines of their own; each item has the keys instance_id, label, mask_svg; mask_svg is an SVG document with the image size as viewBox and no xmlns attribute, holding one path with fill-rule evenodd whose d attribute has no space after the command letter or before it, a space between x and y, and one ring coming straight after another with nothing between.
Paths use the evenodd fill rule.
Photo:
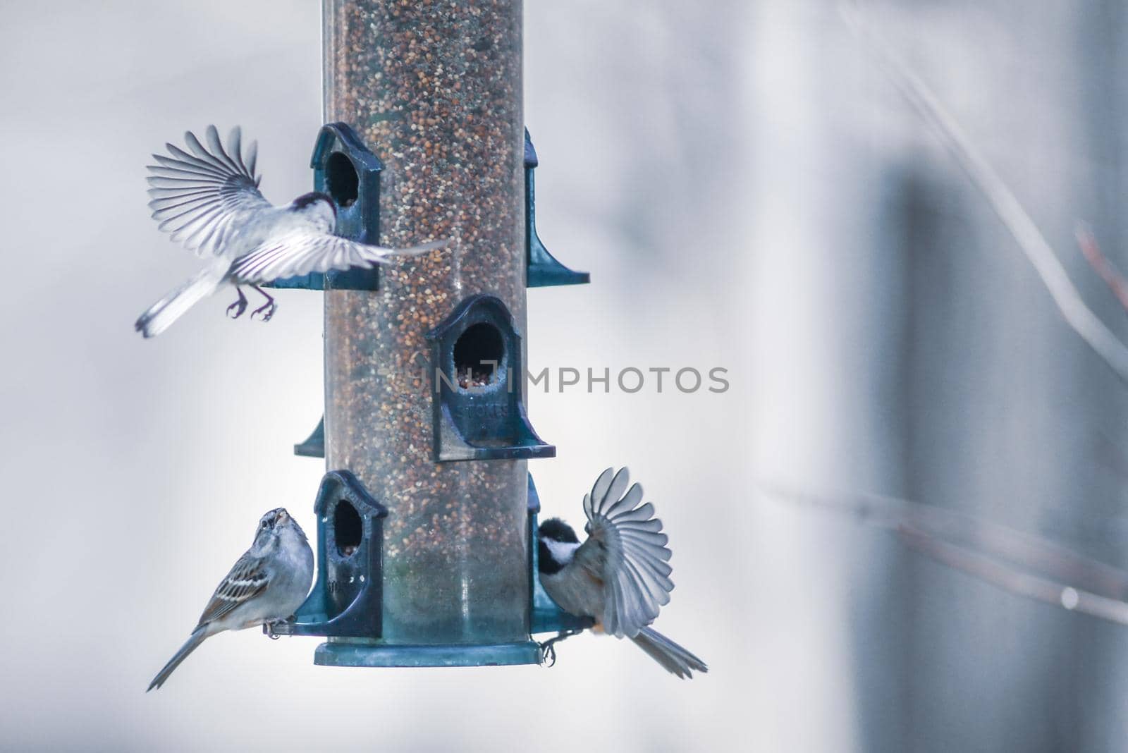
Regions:
<instances>
[{"instance_id":1,"label":"pale bird hovering in mid-air with both wings spread","mask_svg":"<svg viewBox=\"0 0 1128 753\"><path fill-rule=\"evenodd\" d=\"M227 307L232 318L247 308L240 285L250 285L266 303L252 312L263 321L274 315L274 299L259 285L280 277L310 272L370 268L393 256L413 256L442 248L447 241L393 250L365 246L333 234L336 206L325 194L303 194L285 206L274 206L258 192L261 177L255 175L257 147L247 149L244 159L238 127L231 130L227 150L214 125L204 132L209 149L190 131L184 140L192 153L165 144L171 157L153 154L159 165L150 165L149 202L160 229L171 232L197 256L211 262L138 318L134 327L146 337L168 328L194 304L221 285L235 285L239 299Z\"/></svg>"}]
</instances>

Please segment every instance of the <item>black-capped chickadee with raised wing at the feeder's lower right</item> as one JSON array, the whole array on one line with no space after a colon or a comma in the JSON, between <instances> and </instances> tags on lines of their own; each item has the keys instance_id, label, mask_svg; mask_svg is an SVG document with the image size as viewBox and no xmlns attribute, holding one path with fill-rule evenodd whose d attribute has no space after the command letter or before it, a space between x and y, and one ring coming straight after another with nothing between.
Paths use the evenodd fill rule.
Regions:
<instances>
[{"instance_id":1,"label":"black-capped chickadee with raised wing at the feeder's lower right","mask_svg":"<svg viewBox=\"0 0 1128 753\"><path fill-rule=\"evenodd\" d=\"M705 662L649 627L673 590L670 550L654 506L638 506L642 487L627 489L628 482L626 468L614 475L608 468L596 479L583 497L582 544L559 519L540 524L540 584L565 612L593 618L593 630L629 638L679 677L708 672Z\"/></svg>"}]
</instances>

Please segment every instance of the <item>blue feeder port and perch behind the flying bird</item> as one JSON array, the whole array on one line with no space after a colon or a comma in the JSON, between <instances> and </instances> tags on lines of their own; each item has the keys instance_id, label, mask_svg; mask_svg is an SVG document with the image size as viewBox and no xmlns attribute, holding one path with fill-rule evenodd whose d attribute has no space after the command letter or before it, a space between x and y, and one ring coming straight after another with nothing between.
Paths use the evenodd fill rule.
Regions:
<instances>
[{"instance_id":1,"label":"blue feeder port and perch behind the flying bird","mask_svg":"<svg viewBox=\"0 0 1128 753\"><path fill-rule=\"evenodd\" d=\"M369 151L356 132L344 123L323 125L314 143L314 191L328 194L337 209L336 234L362 243L379 245L380 171L384 165ZM268 287L299 290L377 290L379 267L312 272L300 277L275 280Z\"/></svg>"}]
</instances>

